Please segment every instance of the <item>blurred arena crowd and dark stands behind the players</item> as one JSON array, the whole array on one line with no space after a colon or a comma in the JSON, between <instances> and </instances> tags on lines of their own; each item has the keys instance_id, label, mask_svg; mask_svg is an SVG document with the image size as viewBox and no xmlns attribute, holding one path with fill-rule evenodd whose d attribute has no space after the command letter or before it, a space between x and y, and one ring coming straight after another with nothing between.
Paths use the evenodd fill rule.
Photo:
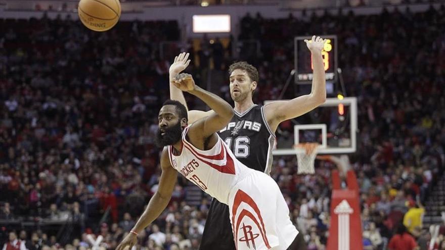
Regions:
<instances>
[{"instance_id":1,"label":"blurred arena crowd and dark stands behind the players","mask_svg":"<svg viewBox=\"0 0 445 250\"><path fill-rule=\"evenodd\" d=\"M0 0L4 250L114 249L158 186L153 138L174 56L189 52L186 71L230 103L228 66L248 61L260 74L254 100L262 104L289 82L294 37L313 34L337 36L344 87L328 81L328 97L358 98L357 152L349 158L364 249L388 249L416 207L424 213L408 229L419 249L428 249L435 228L430 249L445 249L444 1L126 0L107 32L85 28L77 3ZM228 15L225 30L193 22L214 14ZM308 91L310 84L291 80L282 97ZM206 109L186 98L189 108ZM293 138L293 121L277 133ZM274 158L271 176L310 250L326 248L333 169L316 161L316 175L297 175L295 155ZM136 247L197 249L210 201L179 177ZM95 245L88 234L103 239Z\"/></svg>"}]
</instances>

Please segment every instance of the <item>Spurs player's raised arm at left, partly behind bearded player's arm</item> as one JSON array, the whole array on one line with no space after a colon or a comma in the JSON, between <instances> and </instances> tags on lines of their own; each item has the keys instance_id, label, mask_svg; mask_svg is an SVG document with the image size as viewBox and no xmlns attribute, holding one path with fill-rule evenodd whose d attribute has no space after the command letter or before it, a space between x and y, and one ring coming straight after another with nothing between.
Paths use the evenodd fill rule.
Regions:
<instances>
[{"instance_id":1,"label":"Spurs player's raised arm at left, partly behind bearded player's arm","mask_svg":"<svg viewBox=\"0 0 445 250\"><path fill-rule=\"evenodd\" d=\"M188 111L189 116L189 124L194 123L195 121L207 117L214 112L212 110L209 111L201 111L201 110L189 110L186 103L186 98L184 98L184 93L181 89L174 86L173 81L174 78L179 75L182 71L184 71L187 66L190 64L189 53L181 53L174 58L173 64L169 69L169 82L170 82L170 99L176 100L184 105Z\"/></svg>"}]
</instances>

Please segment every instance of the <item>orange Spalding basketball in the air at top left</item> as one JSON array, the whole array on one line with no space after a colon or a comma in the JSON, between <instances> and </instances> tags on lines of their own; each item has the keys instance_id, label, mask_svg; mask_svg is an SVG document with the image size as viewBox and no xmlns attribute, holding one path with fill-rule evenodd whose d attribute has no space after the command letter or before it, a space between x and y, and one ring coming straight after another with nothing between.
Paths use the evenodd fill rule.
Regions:
<instances>
[{"instance_id":1,"label":"orange Spalding basketball in the air at top left","mask_svg":"<svg viewBox=\"0 0 445 250\"><path fill-rule=\"evenodd\" d=\"M80 0L77 7L80 21L91 30L106 31L119 20L119 0Z\"/></svg>"}]
</instances>

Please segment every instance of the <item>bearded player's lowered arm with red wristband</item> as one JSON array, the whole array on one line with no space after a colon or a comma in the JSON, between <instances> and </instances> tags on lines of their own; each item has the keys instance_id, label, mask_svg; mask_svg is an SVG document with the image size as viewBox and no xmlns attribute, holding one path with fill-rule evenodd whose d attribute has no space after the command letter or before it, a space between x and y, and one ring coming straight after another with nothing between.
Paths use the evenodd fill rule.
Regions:
<instances>
[{"instance_id":1,"label":"bearded player's lowered arm with red wristband","mask_svg":"<svg viewBox=\"0 0 445 250\"><path fill-rule=\"evenodd\" d=\"M137 234L139 234L144 228L152 223L159 215L164 211L170 202L171 193L173 192L174 185L176 184L177 171L173 169L168 159L167 147L164 147L161 154L161 178L159 180L158 190L150 199L148 206L141 218L139 218L136 225L131 229L131 233L128 233L125 238L116 247L116 250L123 250L126 246L131 249L137 242Z\"/></svg>"}]
</instances>

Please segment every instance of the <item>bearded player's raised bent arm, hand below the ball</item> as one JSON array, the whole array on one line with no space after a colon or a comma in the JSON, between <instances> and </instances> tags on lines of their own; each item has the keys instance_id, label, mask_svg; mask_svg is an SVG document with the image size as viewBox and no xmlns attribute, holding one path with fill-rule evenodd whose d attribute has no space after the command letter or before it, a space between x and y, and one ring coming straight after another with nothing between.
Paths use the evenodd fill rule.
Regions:
<instances>
[{"instance_id":1,"label":"bearded player's raised bent arm, hand below the ball","mask_svg":"<svg viewBox=\"0 0 445 250\"><path fill-rule=\"evenodd\" d=\"M194 131L197 131L200 138L207 138L213 133L226 127L226 125L232 119L234 115L232 106L230 106L229 103L224 101L224 99L216 94L210 93L209 91L196 86L195 81L190 74L182 73L178 75L174 85L181 90L187 91L190 94L200 98L210 109L213 110L211 115L202 118L193 124L193 128L190 128L189 130L190 137L192 137ZM191 142L193 144L193 141Z\"/></svg>"}]
</instances>

